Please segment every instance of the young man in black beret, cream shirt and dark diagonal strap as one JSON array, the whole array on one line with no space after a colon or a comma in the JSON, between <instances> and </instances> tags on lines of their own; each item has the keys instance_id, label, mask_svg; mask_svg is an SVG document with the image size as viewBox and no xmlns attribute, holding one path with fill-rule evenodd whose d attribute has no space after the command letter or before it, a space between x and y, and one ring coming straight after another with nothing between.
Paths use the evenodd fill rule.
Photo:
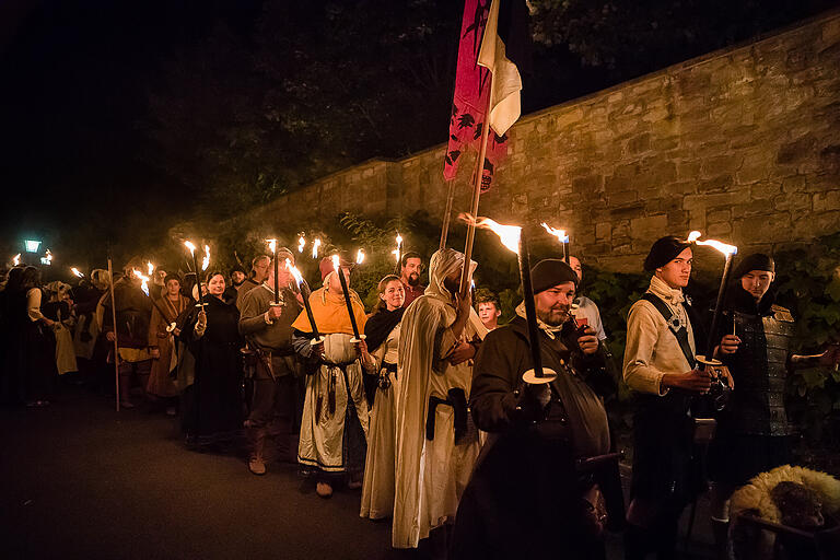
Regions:
<instances>
[{"instance_id":1,"label":"young man in black beret, cream shirt and dark diagonal strap","mask_svg":"<svg viewBox=\"0 0 840 560\"><path fill-rule=\"evenodd\" d=\"M691 275L691 246L675 236L653 244L644 260L645 271L653 272L651 285L627 319L623 376L637 405L628 560L653 551L672 558L680 513L703 490L689 408L692 396L709 392L712 380L696 368L704 341L682 293Z\"/></svg>"}]
</instances>

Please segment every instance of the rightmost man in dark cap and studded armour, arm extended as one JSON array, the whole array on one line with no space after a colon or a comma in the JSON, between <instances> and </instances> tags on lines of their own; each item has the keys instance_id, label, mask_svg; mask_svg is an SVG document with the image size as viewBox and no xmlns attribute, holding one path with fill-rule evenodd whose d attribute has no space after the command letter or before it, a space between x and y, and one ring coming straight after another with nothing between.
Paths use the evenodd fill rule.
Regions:
<instances>
[{"instance_id":1,"label":"rightmost man in dark cap and studded armour, arm extended","mask_svg":"<svg viewBox=\"0 0 840 560\"><path fill-rule=\"evenodd\" d=\"M798 368L831 366L840 361L832 346L816 355L791 352L794 319L775 304L775 262L768 255L744 257L733 273L734 285L718 336L722 361L735 388L718 417L709 450L712 527L721 550L728 533L728 499L750 478L791 462L791 430L784 409L788 373Z\"/></svg>"}]
</instances>

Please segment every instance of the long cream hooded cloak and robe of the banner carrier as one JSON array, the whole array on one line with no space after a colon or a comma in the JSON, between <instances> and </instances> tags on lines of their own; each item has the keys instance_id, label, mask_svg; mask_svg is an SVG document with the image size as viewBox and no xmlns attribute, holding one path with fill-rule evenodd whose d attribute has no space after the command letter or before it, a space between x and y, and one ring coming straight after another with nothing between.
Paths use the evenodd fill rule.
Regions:
<instances>
[{"instance_id":1,"label":"long cream hooded cloak and robe of the banner carrier","mask_svg":"<svg viewBox=\"0 0 840 560\"><path fill-rule=\"evenodd\" d=\"M443 281L463 262L464 256L452 249L435 253L425 294L402 317L392 537L396 548L416 548L431 529L454 521L479 452L475 430L455 442L455 407L458 399L469 399L471 362L452 365L446 360L458 340L448 328L456 311ZM470 265L474 270L476 264ZM463 335L471 340L486 334L478 315L470 311ZM430 400L435 405L431 416ZM466 401L458 410L462 413L466 413ZM427 429L432 425L428 439Z\"/></svg>"}]
</instances>

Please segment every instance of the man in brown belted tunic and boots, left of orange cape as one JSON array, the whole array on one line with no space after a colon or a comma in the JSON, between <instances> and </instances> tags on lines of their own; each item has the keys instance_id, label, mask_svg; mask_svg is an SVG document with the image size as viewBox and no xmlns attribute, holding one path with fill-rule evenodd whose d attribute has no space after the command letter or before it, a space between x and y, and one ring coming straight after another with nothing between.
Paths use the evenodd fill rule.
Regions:
<instances>
[{"instance_id":1,"label":"man in brown belted tunic and boots, left of orange cape","mask_svg":"<svg viewBox=\"0 0 840 560\"><path fill-rule=\"evenodd\" d=\"M293 428L295 421L296 377L299 364L292 347L292 322L302 306L289 288L291 272L287 259L294 265L294 254L285 247L277 249L277 276L268 267L268 278L246 293L240 303L240 334L256 352L250 412L245 431L250 445L248 469L266 474L266 436L273 435L281 460L294 460L298 453ZM271 262L273 265L273 262ZM275 290L280 293L276 298ZM276 301L279 300L279 303Z\"/></svg>"}]
</instances>

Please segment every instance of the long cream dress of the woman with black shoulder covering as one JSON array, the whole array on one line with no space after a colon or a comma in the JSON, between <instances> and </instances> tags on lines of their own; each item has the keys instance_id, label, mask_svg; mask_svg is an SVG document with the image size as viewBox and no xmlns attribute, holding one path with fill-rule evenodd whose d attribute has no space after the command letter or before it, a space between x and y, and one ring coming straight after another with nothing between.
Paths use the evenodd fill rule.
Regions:
<instances>
[{"instance_id":1,"label":"long cream dress of the woman with black shoulder covering","mask_svg":"<svg viewBox=\"0 0 840 560\"><path fill-rule=\"evenodd\" d=\"M380 313L399 313L394 312ZM374 315L375 317L375 315ZM371 318L371 322L374 318ZM369 322L370 325L370 322ZM394 476L396 474L395 442L397 427L397 395L399 375L397 349L400 324L392 329L384 342L373 349L375 371L385 380L376 389L376 399L371 410L371 425L368 438L368 457L364 462L362 485L362 508L360 515L372 520L389 517L394 513ZM370 335L369 335L370 340Z\"/></svg>"}]
</instances>

